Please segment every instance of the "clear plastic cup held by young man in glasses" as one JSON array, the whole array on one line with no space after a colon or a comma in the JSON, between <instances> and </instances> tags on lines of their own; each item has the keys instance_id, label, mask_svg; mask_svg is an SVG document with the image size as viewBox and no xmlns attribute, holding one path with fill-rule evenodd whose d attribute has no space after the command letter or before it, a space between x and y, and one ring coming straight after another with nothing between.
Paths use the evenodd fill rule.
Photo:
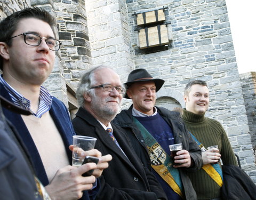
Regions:
<instances>
[{"instance_id":1,"label":"clear plastic cup held by young man in glasses","mask_svg":"<svg viewBox=\"0 0 256 200\"><path fill-rule=\"evenodd\" d=\"M93 149L96 140L92 137L73 135L72 166L79 167L82 165L85 158L84 151Z\"/></svg>"}]
</instances>

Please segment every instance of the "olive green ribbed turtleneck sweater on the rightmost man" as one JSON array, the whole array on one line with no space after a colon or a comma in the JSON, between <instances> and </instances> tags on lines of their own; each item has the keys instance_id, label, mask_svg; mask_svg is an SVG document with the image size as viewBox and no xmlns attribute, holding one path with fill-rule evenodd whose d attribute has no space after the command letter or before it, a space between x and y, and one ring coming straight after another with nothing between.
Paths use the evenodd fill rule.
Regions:
<instances>
[{"instance_id":1,"label":"olive green ribbed turtleneck sweater on the rightmost man","mask_svg":"<svg viewBox=\"0 0 256 200\"><path fill-rule=\"evenodd\" d=\"M183 109L181 116L189 132L201 142L205 148L218 145L219 153L224 165L237 165L236 158L222 125L215 119L203 115L196 115ZM220 197L220 187L207 173L200 169L188 174L198 199L212 199Z\"/></svg>"}]
</instances>

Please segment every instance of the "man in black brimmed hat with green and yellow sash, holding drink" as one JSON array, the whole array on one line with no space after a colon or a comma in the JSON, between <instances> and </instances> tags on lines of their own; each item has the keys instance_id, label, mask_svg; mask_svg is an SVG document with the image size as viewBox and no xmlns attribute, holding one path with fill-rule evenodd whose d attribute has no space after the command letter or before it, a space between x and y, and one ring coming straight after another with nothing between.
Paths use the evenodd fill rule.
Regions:
<instances>
[{"instance_id":1,"label":"man in black brimmed hat with green and yellow sash, holding drink","mask_svg":"<svg viewBox=\"0 0 256 200\"><path fill-rule=\"evenodd\" d=\"M185 128L179 113L156 107L156 92L163 79L153 78L146 69L135 69L128 76L125 98L133 105L122 110L114 123L122 126L143 165L154 172L169 200L196 200L187 172L202 166L201 150ZM182 143L177 156L170 157L169 145Z\"/></svg>"}]
</instances>

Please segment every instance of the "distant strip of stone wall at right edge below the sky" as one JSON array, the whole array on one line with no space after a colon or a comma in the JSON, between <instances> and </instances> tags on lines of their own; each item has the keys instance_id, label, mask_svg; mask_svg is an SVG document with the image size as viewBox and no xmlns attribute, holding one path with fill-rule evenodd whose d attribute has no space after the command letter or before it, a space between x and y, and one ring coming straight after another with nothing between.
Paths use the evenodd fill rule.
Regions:
<instances>
[{"instance_id":1,"label":"distant strip of stone wall at right edge below the sky","mask_svg":"<svg viewBox=\"0 0 256 200\"><path fill-rule=\"evenodd\" d=\"M252 146L256 151L256 72L240 74L245 101L246 115L252 137Z\"/></svg>"}]
</instances>

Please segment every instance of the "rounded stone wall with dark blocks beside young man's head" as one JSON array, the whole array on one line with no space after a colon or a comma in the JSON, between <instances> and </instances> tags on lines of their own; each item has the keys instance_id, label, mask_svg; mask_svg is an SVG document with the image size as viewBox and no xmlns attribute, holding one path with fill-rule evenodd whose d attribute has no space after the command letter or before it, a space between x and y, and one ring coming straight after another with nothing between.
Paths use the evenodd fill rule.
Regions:
<instances>
[{"instance_id":1,"label":"rounded stone wall with dark blocks beside young man's head","mask_svg":"<svg viewBox=\"0 0 256 200\"><path fill-rule=\"evenodd\" d=\"M81 75L92 65L85 1L55 1L54 7L62 42L63 76L76 87Z\"/></svg>"}]
</instances>

